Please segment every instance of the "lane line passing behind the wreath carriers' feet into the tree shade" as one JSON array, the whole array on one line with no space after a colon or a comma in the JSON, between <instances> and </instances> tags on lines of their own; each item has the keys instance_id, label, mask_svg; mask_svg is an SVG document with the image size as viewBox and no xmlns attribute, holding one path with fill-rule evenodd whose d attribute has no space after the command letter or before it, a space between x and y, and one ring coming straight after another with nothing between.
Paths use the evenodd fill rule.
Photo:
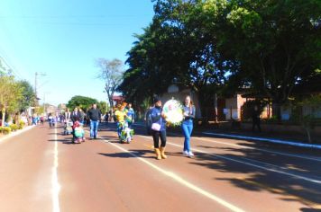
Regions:
<instances>
[{"instance_id":1,"label":"lane line passing behind the wreath carriers' feet into the tree shade","mask_svg":"<svg viewBox=\"0 0 321 212\"><path fill-rule=\"evenodd\" d=\"M145 136L140 136L140 137L145 137ZM151 137L145 137L145 138L152 139ZM180 146L180 145L177 145L177 144L173 144L173 143L170 143L170 142L166 142L166 143L171 145L171 146L177 146L177 147L183 148L183 146ZM239 160L236 160L236 159L233 159L233 158L230 158L230 157L225 157L225 156L222 156L222 155L214 155L212 153L208 153L206 151L203 151L203 150L200 150L200 149L197 149L197 148L191 148L191 149L193 151L195 151L195 152L203 153L203 154L207 154L207 155L212 155L214 157L222 158L222 159L225 159L227 161L233 161L233 162L236 162L236 163L243 163L243 164L246 164L246 165L250 165L252 167L256 167L256 168L259 168L259 169L263 169L263 170L269 171L269 172L278 172L278 173L285 174L285 175L288 175L288 176L291 176L291 177L294 177L294 178L298 178L298 179L301 179L301 180L304 180L304 181L309 181L309 182L314 182L314 183L317 183L317 184L321 184L321 181L317 181L317 180L314 180L314 179L311 179L311 178L300 176L298 174L289 173L289 172L283 172L283 171L280 171L280 170L263 167L263 166L256 165L256 164L253 164L253 163L247 163L247 162L239 161ZM262 162L260 162L260 163L262 163ZM265 164L268 165L268 166L274 166L274 167L279 167L281 169L286 169L284 167L272 165L272 164L269 164L269 163L265 163Z\"/></svg>"}]
</instances>

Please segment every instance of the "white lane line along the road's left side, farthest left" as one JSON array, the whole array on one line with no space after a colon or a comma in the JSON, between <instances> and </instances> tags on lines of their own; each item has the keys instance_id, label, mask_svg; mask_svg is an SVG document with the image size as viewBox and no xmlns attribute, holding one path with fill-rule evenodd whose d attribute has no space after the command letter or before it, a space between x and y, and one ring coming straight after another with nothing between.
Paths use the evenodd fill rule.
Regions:
<instances>
[{"instance_id":1,"label":"white lane line along the road's left side, farthest left","mask_svg":"<svg viewBox=\"0 0 321 212\"><path fill-rule=\"evenodd\" d=\"M60 183L58 181L58 137L57 137L57 128L55 128L55 146L54 146L54 155L53 155L53 167L51 175L51 193L52 193L52 204L53 212L60 212Z\"/></svg>"}]
</instances>

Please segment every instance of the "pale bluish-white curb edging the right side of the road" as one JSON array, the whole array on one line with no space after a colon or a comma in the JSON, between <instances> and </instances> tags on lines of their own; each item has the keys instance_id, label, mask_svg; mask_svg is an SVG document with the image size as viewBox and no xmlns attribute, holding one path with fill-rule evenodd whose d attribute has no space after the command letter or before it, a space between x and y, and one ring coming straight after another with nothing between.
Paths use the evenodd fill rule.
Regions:
<instances>
[{"instance_id":1,"label":"pale bluish-white curb edging the right side of the road","mask_svg":"<svg viewBox=\"0 0 321 212\"><path fill-rule=\"evenodd\" d=\"M218 136L218 137L233 137L233 138L241 138L241 139L248 139L248 140L257 140L257 141L266 141L280 145L289 145L289 146L299 146L299 147L306 147L306 148L313 148L313 149L321 149L320 145L308 145L303 143L298 143L296 141L291 140L281 140L276 138L266 138L266 137L245 137L245 136L237 136L232 134L224 134L224 133L212 133L212 132L203 132L203 134L211 135L211 136Z\"/></svg>"}]
</instances>

